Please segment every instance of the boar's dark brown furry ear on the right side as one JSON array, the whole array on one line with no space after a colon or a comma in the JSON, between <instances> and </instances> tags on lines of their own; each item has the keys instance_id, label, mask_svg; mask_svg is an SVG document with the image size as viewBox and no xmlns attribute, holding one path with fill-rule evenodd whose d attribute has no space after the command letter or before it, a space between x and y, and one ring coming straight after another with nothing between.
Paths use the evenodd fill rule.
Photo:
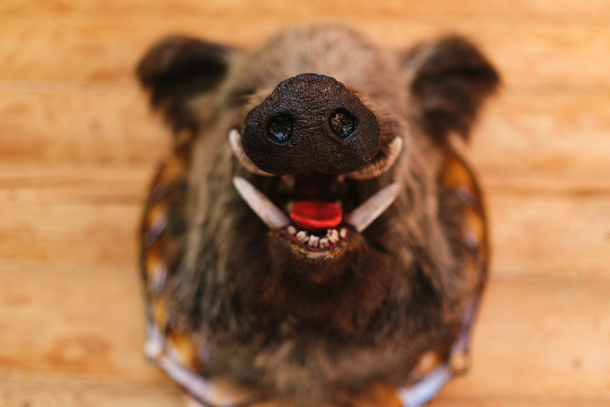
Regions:
<instances>
[{"instance_id":1,"label":"boar's dark brown furry ear on the right side","mask_svg":"<svg viewBox=\"0 0 610 407\"><path fill-rule=\"evenodd\" d=\"M500 77L467 39L445 37L404 54L402 69L423 130L434 138L451 132L468 139L481 104Z\"/></svg>"}]
</instances>

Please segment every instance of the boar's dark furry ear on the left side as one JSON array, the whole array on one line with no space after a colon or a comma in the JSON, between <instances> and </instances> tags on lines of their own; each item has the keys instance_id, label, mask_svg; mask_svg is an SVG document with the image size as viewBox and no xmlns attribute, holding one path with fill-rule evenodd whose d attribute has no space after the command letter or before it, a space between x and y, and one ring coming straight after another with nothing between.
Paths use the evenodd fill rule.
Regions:
<instances>
[{"instance_id":1,"label":"boar's dark furry ear on the left side","mask_svg":"<svg viewBox=\"0 0 610 407\"><path fill-rule=\"evenodd\" d=\"M148 50L136 73L142 87L150 91L152 108L162 111L175 131L194 128L188 101L220 84L233 54L223 45L172 35Z\"/></svg>"}]
</instances>

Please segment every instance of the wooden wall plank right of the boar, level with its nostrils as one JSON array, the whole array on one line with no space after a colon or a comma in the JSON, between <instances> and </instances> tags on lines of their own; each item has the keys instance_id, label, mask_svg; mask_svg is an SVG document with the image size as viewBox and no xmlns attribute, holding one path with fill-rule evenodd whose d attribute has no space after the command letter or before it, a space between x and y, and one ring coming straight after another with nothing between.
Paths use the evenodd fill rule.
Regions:
<instances>
[{"instance_id":1,"label":"wooden wall plank right of the boar, level with its nostrils","mask_svg":"<svg viewBox=\"0 0 610 407\"><path fill-rule=\"evenodd\" d=\"M468 155L483 177L610 180L609 109L610 92L506 89L483 112Z\"/></svg>"}]
</instances>

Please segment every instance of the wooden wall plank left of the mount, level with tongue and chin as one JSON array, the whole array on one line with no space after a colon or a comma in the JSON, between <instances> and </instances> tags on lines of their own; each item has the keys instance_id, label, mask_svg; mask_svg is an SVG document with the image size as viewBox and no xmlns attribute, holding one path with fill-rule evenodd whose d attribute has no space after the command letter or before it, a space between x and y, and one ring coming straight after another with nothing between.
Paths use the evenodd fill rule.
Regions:
<instances>
[{"instance_id":1,"label":"wooden wall plank left of the mount, level with tongue and chin","mask_svg":"<svg viewBox=\"0 0 610 407\"><path fill-rule=\"evenodd\" d=\"M116 264L135 259L140 205L15 205L10 202L27 202L31 195L27 191L3 195L9 204L0 206L0 262ZM30 202L54 200L44 195Z\"/></svg>"}]
</instances>

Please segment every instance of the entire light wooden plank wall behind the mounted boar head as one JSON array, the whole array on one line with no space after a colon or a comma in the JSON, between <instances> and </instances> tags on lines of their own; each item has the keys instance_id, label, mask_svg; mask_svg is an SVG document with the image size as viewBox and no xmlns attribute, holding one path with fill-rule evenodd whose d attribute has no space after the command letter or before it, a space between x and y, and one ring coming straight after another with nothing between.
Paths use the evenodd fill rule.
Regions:
<instances>
[{"instance_id":1,"label":"entire light wooden plank wall behind the mounted boar head","mask_svg":"<svg viewBox=\"0 0 610 407\"><path fill-rule=\"evenodd\" d=\"M168 32L445 32L504 76L475 133L494 259L473 369L433 407L610 405L610 2L1 0L0 405L176 406L142 356L137 224L168 147L132 71Z\"/></svg>"}]
</instances>

